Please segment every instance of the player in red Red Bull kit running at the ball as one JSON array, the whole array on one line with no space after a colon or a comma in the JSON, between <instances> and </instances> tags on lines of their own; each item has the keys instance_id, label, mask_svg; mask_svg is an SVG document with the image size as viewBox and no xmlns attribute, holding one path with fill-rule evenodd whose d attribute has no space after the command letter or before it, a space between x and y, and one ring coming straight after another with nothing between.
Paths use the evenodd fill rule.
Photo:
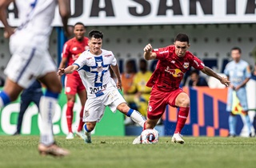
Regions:
<instances>
[{"instance_id":1,"label":"player in red Red Bull kit running at the ball","mask_svg":"<svg viewBox=\"0 0 256 168\"><path fill-rule=\"evenodd\" d=\"M146 84L147 87L152 87L152 90L147 120L143 129L153 129L156 126L158 119L166 110L167 104L172 107L180 107L176 130L172 138L174 143L184 143L180 133L190 111L190 97L182 91L182 88L179 88L184 73L192 66L208 76L214 76L226 86L230 83L188 52L189 48L189 37L185 33L179 33L175 37L174 45L152 50L152 46L149 44L144 48L144 58L147 61L157 59L158 64ZM136 143L140 143L139 138L134 139L134 144Z\"/></svg>"}]
</instances>

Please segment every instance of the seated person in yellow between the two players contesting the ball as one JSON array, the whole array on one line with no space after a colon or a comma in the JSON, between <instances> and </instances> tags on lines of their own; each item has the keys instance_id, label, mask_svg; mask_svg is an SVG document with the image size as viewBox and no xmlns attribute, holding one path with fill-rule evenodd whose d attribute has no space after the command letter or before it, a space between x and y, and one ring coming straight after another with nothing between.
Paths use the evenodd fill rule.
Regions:
<instances>
[{"instance_id":1,"label":"seated person in yellow between the two players contesting the ball","mask_svg":"<svg viewBox=\"0 0 256 168\"><path fill-rule=\"evenodd\" d=\"M146 87L146 83L150 80L152 72L147 71L146 60L139 62L138 72L134 77L134 87L136 88L136 94L134 96L134 102L138 107L138 111L146 117L148 101L150 100L151 88Z\"/></svg>"}]
</instances>

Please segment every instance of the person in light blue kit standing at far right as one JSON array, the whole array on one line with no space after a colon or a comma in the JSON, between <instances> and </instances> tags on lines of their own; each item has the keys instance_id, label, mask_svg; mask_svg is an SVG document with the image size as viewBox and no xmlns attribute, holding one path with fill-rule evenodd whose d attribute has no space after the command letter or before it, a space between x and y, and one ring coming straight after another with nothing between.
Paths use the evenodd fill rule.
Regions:
<instances>
[{"instance_id":1,"label":"person in light blue kit standing at far right","mask_svg":"<svg viewBox=\"0 0 256 168\"><path fill-rule=\"evenodd\" d=\"M226 64L224 73L227 76L227 79L230 80L230 87L228 91L226 111L230 112L229 116L229 126L230 134L229 137L235 137L235 127L237 123L237 117L232 113L232 103L233 103L233 91L236 92L238 100L242 105L242 110L245 112L246 124L249 131L249 136L251 136L251 123L250 117L248 115L248 105L247 105L247 96L246 96L246 83L250 80L250 66L246 61L241 60L241 49L234 47L231 49L231 57L233 61Z\"/></svg>"}]
</instances>

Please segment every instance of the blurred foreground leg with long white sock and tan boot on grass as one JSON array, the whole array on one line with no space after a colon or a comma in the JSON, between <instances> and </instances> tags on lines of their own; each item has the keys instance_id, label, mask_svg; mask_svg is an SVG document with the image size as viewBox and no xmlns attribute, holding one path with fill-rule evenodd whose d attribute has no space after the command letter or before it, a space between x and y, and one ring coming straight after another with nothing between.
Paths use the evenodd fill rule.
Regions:
<instances>
[{"instance_id":1,"label":"blurred foreground leg with long white sock and tan boot on grass","mask_svg":"<svg viewBox=\"0 0 256 168\"><path fill-rule=\"evenodd\" d=\"M46 85L46 93L40 100L40 115L42 117L42 127L40 129L39 153L42 155L51 154L63 156L70 154L69 150L62 149L54 143L53 123L55 104L58 102L58 94L62 85L56 76L56 72L48 72L39 80Z\"/></svg>"}]
</instances>

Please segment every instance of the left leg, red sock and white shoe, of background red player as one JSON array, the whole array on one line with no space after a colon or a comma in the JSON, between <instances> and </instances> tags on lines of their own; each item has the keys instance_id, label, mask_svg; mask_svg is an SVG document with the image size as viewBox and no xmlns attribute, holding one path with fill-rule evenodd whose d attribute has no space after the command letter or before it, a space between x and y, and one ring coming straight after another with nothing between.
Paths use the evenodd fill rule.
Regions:
<instances>
[{"instance_id":1,"label":"left leg, red sock and white shoe, of background red player","mask_svg":"<svg viewBox=\"0 0 256 168\"><path fill-rule=\"evenodd\" d=\"M69 130L69 133L66 135L66 139L74 139L74 134L72 131L72 123L74 118L74 101L75 101L75 95L66 94L66 100L67 100L67 107L66 107L66 123Z\"/></svg>"}]
</instances>

